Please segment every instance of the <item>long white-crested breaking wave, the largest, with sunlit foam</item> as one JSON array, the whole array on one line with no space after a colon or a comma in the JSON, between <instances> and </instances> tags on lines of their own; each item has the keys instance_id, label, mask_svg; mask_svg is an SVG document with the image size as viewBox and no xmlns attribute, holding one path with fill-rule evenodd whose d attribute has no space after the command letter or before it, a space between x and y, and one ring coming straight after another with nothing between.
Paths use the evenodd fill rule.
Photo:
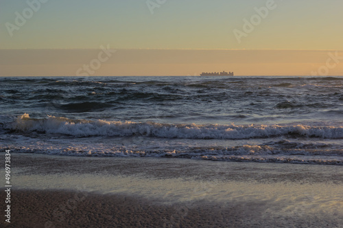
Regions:
<instances>
[{"instance_id":1,"label":"long white-crested breaking wave, the largest, with sunlit foam","mask_svg":"<svg viewBox=\"0 0 343 228\"><path fill-rule=\"evenodd\" d=\"M23 132L59 133L75 137L88 136L147 136L179 139L251 139L292 135L325 139L343 138L343 127L307 125L218 125L218 124L159 124L154 122L120 122L106 120L68 119L49 116L34 119L20 115L5 128Z\"/></svg>"}]
</instances>

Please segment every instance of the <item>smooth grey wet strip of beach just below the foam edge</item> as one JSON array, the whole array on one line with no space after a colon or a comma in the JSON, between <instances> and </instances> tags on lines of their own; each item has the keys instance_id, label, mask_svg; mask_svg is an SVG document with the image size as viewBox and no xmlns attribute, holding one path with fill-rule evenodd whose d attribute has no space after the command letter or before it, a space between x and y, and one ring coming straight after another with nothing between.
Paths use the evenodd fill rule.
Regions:
<instances>
[{"instance_id":1,"label":"smooth grey wet strip of beach just below the foam edge","mask_svg":"<svg viewBox=\"0 0 343 228\"><path fill-rule=\"evenodd\" d=\"M310 181L343 185L341 166L311 163L212 161L172 157L82 157L31 152L11 152L11 155L19 174L24 174L25 170L25 174L30 175L104 172L115 176L145 176L156 179L195 178L211 181L213 175L217 174L215 178L221 181L263 181L264 183ZM84 165L89 167L85 168ZM51 166L51 169L46 169L47 166Z\"/></svg>"}]
</instances>

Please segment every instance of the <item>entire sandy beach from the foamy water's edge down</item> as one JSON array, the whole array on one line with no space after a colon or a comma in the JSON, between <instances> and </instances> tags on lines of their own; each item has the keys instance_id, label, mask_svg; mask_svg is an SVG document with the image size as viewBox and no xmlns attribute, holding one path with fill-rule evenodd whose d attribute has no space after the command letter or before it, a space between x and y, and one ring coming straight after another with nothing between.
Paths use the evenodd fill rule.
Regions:
<instances>
[{"instance_id":1,"label":"entire sandy beach from the foamy water's edge down","mask_svg":"<svg viewBox=\"0 0 343 228\"><path fill-rule=\"evenodd\" d=\"M5 227L343 224L340 166L20 153L12 161Z\"/></svg>"}]
</instances>

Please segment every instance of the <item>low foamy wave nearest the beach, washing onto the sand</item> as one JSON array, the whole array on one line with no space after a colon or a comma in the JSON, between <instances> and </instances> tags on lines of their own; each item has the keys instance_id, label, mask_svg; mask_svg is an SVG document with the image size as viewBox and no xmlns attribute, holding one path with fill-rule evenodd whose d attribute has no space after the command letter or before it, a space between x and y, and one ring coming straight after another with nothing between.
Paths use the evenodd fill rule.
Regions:
<instances>
[{"instance_id":1,"label":"low foamy wave nearest the beach, washing onto the sand","mask_svg":"<svg viewBox=\"0 0 343 228\"><path fill-rule=\"evenodd\" d=\"M1 146L0 149L8 149ZM343 166L342 150L278 150L270 146L235 146L232 148L186 148L169 150L163 148L134 149L124 146L82 144L53 146L39 143L30 146L12 146L12 152L29 152L47 155L78 157L165 157L181 159L202 159L211 161L250 161L263 163L307 163Z\"/></svg>"}]
</instances>

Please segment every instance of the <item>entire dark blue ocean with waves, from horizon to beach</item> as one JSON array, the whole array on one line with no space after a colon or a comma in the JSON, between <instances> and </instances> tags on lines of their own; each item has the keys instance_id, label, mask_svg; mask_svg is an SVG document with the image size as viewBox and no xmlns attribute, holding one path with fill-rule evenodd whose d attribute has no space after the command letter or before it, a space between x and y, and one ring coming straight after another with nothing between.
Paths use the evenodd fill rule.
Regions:
<instances>
[{"instance_id":1,"label":"entire dark blue ocean with waves, from horizon to beach","mask_svg":"<svg viewBox=\"0 0 343 228\"><path fill-rule=\"evenodd\" d=\"M343 165L343 77L0 78L0 148Z\"/></svg>"}]
</instances>

